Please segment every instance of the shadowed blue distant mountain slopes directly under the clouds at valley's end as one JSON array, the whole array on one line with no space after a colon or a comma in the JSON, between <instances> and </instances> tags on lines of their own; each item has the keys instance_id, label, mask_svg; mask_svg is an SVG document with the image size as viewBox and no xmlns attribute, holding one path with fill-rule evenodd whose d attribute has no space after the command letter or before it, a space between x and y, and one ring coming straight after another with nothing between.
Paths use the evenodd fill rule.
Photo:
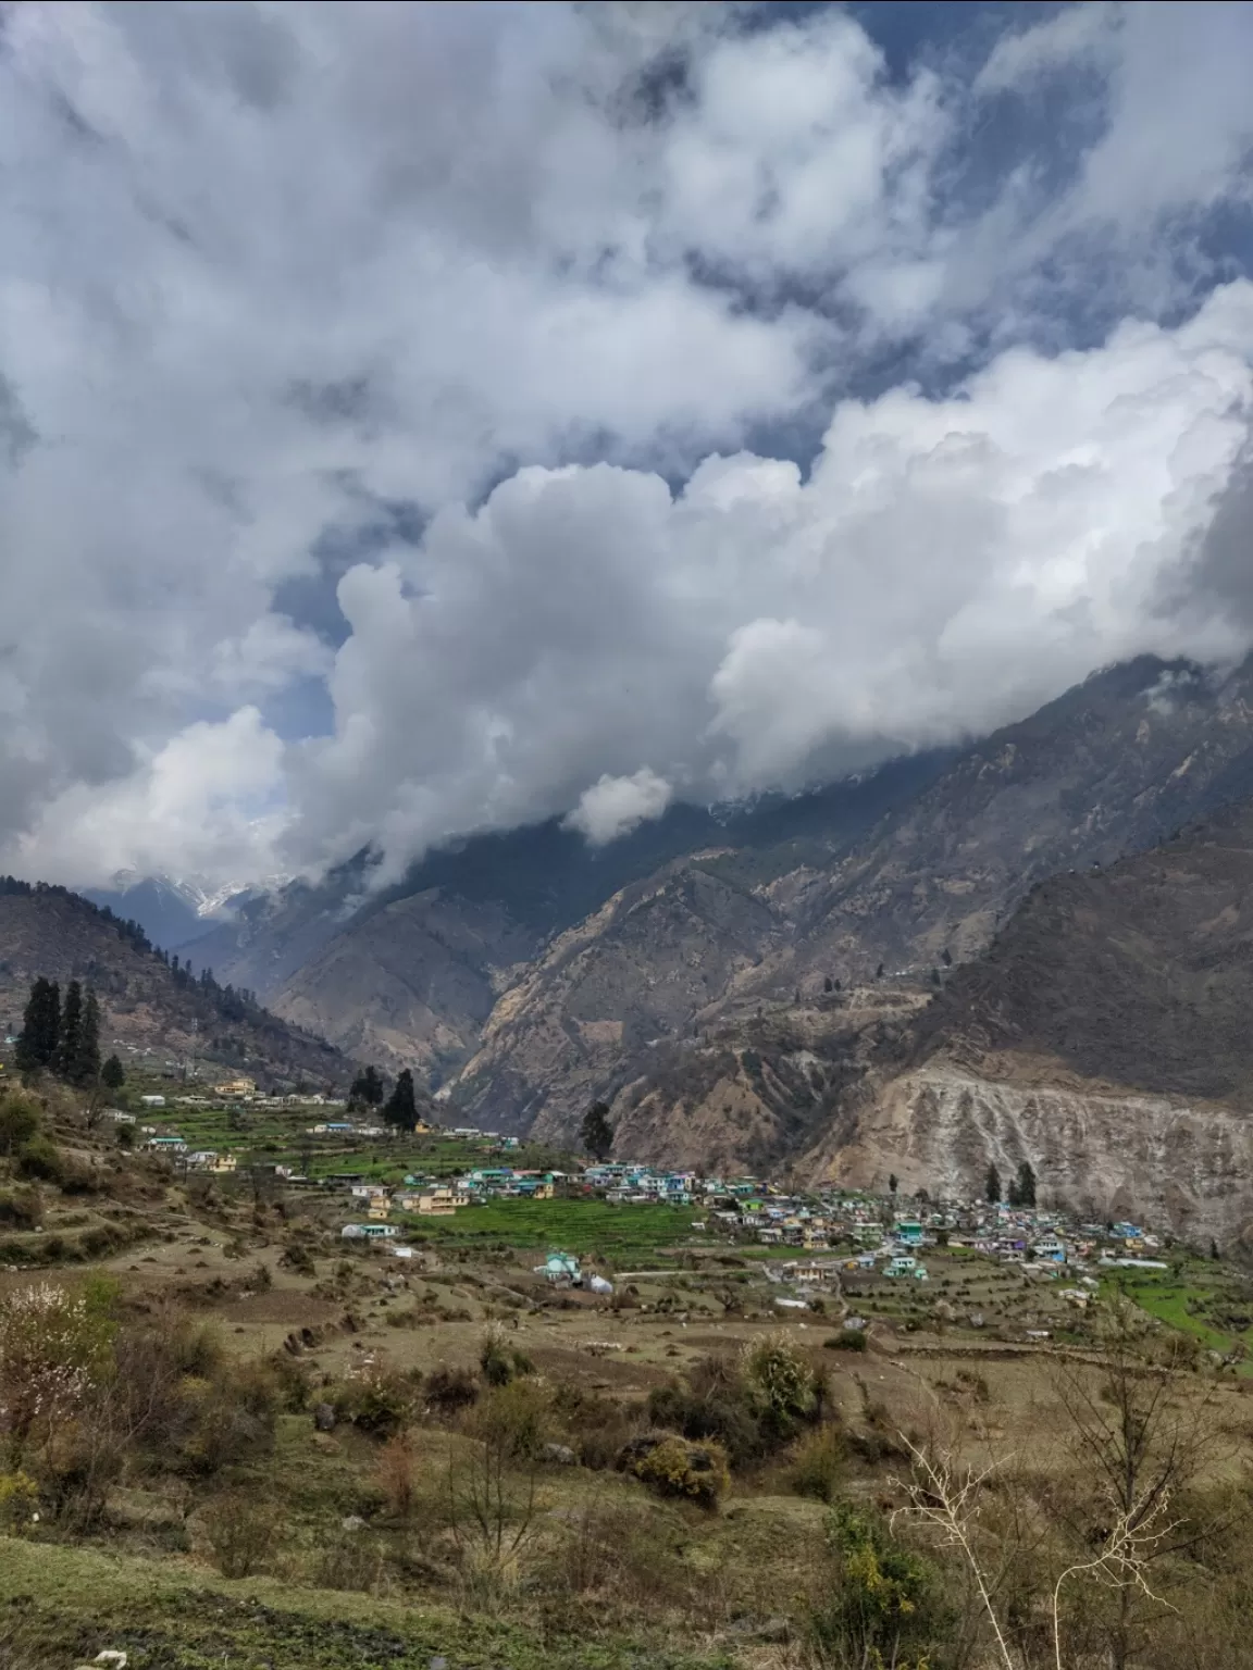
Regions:
<instances>
[{"instance_id":1,"label":"shadowed blue distant mountain slopes directly under the clouds at valley's end","mask_svg":"<svg viewBox=\"0 0 1253 1670\"><path fill-rule=\"evenodd\" d=\"M921 753L862 778L717 815L677 805L600 848L555 818L479 835L429 853L383 893L368 893L358 858L316 887L297 882L246 902L232 922L187 949L197 967L256 989L277 1014L383 1065L418 1067L438 1084L474 1052L520 965L623 887L702 848L725 853L733 890L802 863L830 865L952 757ZM637 965L637 982L647 985L638 957ZM618 985L621 975L605 980ZM642 1002L647 1010L648 999Z\"/></svg>"}]
</instances>

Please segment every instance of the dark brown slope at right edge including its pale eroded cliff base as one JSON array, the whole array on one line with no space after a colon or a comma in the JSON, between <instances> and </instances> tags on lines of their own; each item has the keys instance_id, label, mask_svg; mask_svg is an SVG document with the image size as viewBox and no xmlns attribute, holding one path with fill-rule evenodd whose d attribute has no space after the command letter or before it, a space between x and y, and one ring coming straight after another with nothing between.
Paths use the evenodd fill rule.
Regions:
<instances>
[{"instance_id":1,"label":"dark brown slope at right edge including its pale eroded cliff base","mask_svg":"<svg viewBox=\"0 0 1253 1670\"><path fill-rule=\"evenodd\" d=\"M1059 875L954 970L845 1099L819 1176L1046 1194L1253 1236L1253 802L1108 870Z\"/></svg>"}]
</instances>

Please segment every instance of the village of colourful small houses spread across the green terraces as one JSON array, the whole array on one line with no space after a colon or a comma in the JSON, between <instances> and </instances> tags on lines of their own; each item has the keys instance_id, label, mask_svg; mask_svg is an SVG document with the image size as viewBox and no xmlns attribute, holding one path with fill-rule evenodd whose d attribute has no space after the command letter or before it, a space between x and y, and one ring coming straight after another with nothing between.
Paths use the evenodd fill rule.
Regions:
<instances>
[{"instance_id":1,"label":"village of colourful small houses spread across the green terraces","mask_svg":"<svg viewBox=\"0 0 1253 1670\"><path fill-rule=\"evenodd\" d=\"M625 1161L586 1162L561 1156L561 1166L523 1164L516 1157L521 1142L515 1136L473 1126L426 1124L404 1134L436 1144L443 1154L438 1167L421 1169L404 1162L401 1134L321 1097L266 1097L247 1079L224 1080L211 1092L152 1094L139 1101L144 1114L154 1119L167 1107L170 1112L177 1107L190 1119L197 1111L224 1106L246 1106L252 1117L266 1112L291 1116L297 1107L322 1116L299 1127L299 1159L276 1157L266 1161L262 1169L279 1186L316 1189L324 1196L336 1211L344 1241L383 1242L396 1258L413 1258L414 1242L421 1246L431 1234L438 1236L449 1219L473 1232L486 1206L596 1201L626 1214L642 1207L670 1207L677 1242L757 1247L765 1274L789 1284L792 1296L779 1298L775 1303L780 1306L804 1308L824 1286L840 1281L852 1288L864 1276L922 1284L932 1279L929 1258L934 1263L939 1254L977 1254L1021 1268L1024 1276L1068 1283L1056 1293L1078 1309L1084 1309L1099 1288L1101 1271L1168 1269L1168 1261L1161 1258L1161 1237L1151 1229L1076 1217L1056 1204L1016 1204L1012 1184L1006 1191L1007 1201L932 1201L926 1192L906 1201L897 1197L895 1187L885 1194L840 1189L795 1192L755 1176L703 1176ZM134 1114L110 1111L110 1116L137 1124ZM149 1152L165 1154L187 1176L231 1177L241 1171L239 1152L200 1146L164 1124L137 1124L137 1136ZM363 1166L361 1151L378 1147L384 1151L381 1167ZM311 1154L319 1149L334 1152L334 1164L311 1164ZM388 1151L394 1151L393 1166L386 1164ZM459 1152L464 1162L459 1162ZM242 1157L242 1164L254 1174L257 1159L256 1154ZM1032 1177L1032 1201L1034 1192ZM558 1284L600 1281L561 1247L561 1226L563 1216L555 1211L550 1258L538 1269Z\"/></svg>"}]
</instances>

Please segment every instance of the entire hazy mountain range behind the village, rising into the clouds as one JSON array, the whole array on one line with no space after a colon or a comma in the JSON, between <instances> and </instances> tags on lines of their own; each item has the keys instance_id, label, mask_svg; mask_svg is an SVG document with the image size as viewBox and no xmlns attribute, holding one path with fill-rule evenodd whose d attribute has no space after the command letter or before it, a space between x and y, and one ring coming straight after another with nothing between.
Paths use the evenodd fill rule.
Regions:
<instances>
[{"instance_id":1,"label":"entire hazy mountain range behind the village, rising into the clouds","mask_svg":"<svg viewBox=\"0 0 1253 1670\"><path fill-rule=\"evenodd\" d=\"M361 855L144 897L194 917L197 967L416 1069L449 1119L568 1142L605 1099L620 1156L879 1186L1031 1157L1093 1211L1230 1237L1251 805L1253 658L1146 656L967 746L600 848L550 820L388 890Z\"/></svg>"}]
</instances>

